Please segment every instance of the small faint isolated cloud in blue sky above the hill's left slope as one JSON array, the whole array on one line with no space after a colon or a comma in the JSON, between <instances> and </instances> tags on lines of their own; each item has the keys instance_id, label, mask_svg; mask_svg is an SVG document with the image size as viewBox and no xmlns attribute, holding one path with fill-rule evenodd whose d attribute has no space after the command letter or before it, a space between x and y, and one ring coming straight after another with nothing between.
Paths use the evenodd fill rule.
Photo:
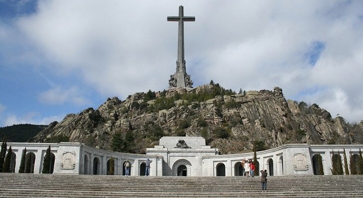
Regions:
<instances>
[{"instance_id":1,"label":"small faint isolated cloud in blue sky above the hill's left slope","mask_svg":"<svg viewBox=\"0 0 363 198\"><path fill-rule=\"evenodd\" d=\"M82 96L83 92L78 87L62 88L54 87L40 93L38 99L46 104L73 103L77 105L90 104L91 101Z\"/></svg>"}]
</instances>

